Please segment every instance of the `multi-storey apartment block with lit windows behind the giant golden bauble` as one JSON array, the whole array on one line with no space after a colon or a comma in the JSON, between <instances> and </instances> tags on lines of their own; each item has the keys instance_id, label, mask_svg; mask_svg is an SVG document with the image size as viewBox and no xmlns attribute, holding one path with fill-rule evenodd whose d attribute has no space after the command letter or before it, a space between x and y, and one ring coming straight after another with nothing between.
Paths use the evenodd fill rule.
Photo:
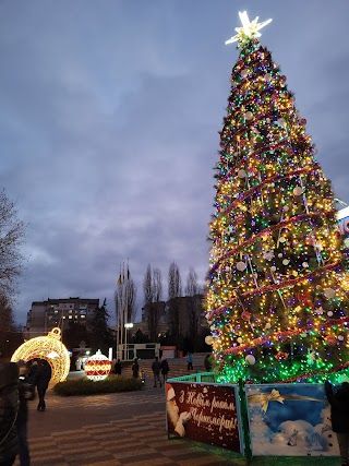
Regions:
<instances>
[{"instance_id":1,"label":"multi-storey apartment block with lit windows behind the giant golden bauble","mask_svg":"<svg viewBox=\"0 0 349 466\"><path fill-rule=\"evenodd\" d=\"M69 322L86 325L99 308L99 299L65 298L34 301L27 312L25 337L46 335L53 327L67 328Z\"/></svg>"}]
</instances>

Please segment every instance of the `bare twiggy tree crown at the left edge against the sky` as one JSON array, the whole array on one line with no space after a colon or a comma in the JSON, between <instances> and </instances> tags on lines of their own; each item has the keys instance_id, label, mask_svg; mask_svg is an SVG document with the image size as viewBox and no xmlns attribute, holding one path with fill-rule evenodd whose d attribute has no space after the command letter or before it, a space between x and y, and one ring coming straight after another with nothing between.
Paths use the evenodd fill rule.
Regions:
<instances>
[{"instance_id":1,"label":"bare twiggy tree crown at the left edge against the sky","mask_svg":"<svg viewBox=\"0 0 349 466\"><path fill-rule=\"evenodd\" d=\"M14 290L15 279L21 274L24 256L21 253L25 224L17 218L14 202L4 190L0 192L0 292L4 296Z\"/></svg>"}]
</instances>

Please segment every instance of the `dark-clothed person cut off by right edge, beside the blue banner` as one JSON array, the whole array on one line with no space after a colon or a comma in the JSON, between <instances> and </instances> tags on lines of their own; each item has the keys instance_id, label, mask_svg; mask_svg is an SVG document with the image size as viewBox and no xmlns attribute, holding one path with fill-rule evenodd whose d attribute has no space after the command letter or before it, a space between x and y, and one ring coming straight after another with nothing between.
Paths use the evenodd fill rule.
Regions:
<instances>
[{"instance_id":1,"label":"dark-clothed person cut off by right edge, beside the blue banner","mask_svg":"<svg viewBox=\"0 0 349 466\"><path fill-rule=\"evenodd\" d=\"M332 430L336 432L341 466L349 465L349 383L342 382L334 393L333 385L325 382L325 393L330 404Z\"/></svg>"}]
</instances>

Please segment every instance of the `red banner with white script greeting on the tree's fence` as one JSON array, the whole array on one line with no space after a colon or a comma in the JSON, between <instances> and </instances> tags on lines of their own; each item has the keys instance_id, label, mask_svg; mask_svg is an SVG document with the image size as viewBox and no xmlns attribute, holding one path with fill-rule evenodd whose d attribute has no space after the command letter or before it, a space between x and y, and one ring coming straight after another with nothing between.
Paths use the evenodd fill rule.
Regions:
<instances>
[{"instance_id":1,"label":"red banner with white script greeting on the tree's fence","mask_svg":"<svg viewBox=\"0 0 349 466\"><path fill-rule=\"evenodd\" d=\"M169 434L242 453L237 385L166 384Z\"/></svg>"}]
</instances>

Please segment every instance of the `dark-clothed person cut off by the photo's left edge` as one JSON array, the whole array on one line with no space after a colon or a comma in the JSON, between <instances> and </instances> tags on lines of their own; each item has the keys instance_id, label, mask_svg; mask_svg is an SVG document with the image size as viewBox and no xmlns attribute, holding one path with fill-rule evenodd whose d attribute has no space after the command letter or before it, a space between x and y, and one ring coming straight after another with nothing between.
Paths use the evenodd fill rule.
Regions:
<instances>
[{"instance_id":1,"label":"dark-clothed person cut off by the photo's left edge","mask_svg":"<svg viewBox=\"0 0 349 466\"><path fill-rule=\"evenodd\" d=\"M12 466L19 453L19 375L15 362L0 366L0 466Z\"/></svg>"}]
</instances>

